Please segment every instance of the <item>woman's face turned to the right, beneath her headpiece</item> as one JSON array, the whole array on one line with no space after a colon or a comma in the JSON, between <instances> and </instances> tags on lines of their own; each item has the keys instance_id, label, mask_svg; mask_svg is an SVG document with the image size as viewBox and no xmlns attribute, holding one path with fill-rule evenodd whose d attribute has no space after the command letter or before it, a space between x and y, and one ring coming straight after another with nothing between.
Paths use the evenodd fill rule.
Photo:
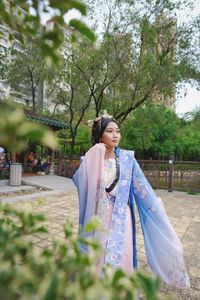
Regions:
<instances>
[{"instance_id":1,"label":"woman's face turned to the right, beneath her headpiece","mask_svg":"<svg viewBox=\"0 0 200 300\"><path fill-rule=\"evenodd\" d=\"M117 147L121 139L121 134L118 125L115 122L108 123L103 132L101 142L108 147Z\"/></svg>"}]
</instances>

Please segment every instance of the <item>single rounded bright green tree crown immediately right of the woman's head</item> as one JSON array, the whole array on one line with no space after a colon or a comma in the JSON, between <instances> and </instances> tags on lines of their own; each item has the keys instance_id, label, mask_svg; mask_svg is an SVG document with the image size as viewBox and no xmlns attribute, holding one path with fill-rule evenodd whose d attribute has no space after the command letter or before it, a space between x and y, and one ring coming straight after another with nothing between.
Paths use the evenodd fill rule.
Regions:
<instances>
[{"instance_id":1,"label":"single rounded bright green tree crown immediately right of the woman's head","mask_svg":"<svg viewBox=\"0 0 200 300\"><path fill-rule=\"evenodd\" d=\"M141 121L142 120L142 121ZM140 158L168 158L176 153L180 120L164 105L137 109L122 127L122 147Z\"/></svg>"}]
</instances>

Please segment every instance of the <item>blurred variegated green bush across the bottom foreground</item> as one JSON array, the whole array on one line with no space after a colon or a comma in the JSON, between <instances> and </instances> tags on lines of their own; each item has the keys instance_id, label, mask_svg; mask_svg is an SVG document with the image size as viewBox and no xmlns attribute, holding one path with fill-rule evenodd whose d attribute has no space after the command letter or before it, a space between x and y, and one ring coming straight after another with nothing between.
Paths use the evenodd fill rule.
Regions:
<instances>
[{"instance_id":1,"label":"blurred variegated green bush across the bottom foreground","mask_svg":"<svg viewBox=\"0 0 200 300\"><path fill-rule=\"evenodd\" d=\"M141 273L126 275L107 266L103 276L96 273L95 261L100 246L94 238L75 237L70 224L64 226L65 241L56 239L52 247L39 250L31 242L32 234L45 234L43 215L31 207L19 211L0 204L0 298L9 299L136 299L137 289L144 299L161 299L159 280ZM97 220L88 230L97 227ZM45 237L45 236L44 236ZM89 253L80 252L86 243ZM164 299L164 298L162 298Z\"/></svg>"}]
</instances>

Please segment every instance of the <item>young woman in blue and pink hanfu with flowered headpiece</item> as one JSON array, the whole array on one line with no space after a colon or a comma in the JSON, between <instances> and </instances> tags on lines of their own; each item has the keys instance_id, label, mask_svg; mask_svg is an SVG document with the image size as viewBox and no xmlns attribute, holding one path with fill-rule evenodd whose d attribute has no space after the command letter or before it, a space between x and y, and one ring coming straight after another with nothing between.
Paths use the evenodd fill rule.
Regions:
<instances>
[{"instance_id":1,"label":"young woman in blue and pink hanfu with flowered headpiece","mask_svg":"<svg viewBox=\"0 0 200 300\"><path fill-rule=\"evenodd\" d=\"M102 228L95 234L104 252L97 269L104 264L126 272L137 268L136 203L152 271L174 288L187 288L190 281L181 243L134 152L117 147L120 138L119 124L112 116L104 114L92 121L93 147L73 176L79 193L82 234L87 235L84 227L92 216L101 219ZM86 252L87 247L82 245L81 250Z\"/></svg>"}]
</instances>

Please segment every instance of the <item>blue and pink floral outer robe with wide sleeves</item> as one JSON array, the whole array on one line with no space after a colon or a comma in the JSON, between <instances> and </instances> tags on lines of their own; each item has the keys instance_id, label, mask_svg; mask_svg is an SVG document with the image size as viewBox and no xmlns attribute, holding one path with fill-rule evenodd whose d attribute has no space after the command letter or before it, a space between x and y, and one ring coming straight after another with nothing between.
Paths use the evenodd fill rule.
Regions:
<instances>
[{"instance_id":1,"label":"blue and pink floral outer robe with wide sleeves","mask_svg":"<svg viewBox=\"0 0 200 300\"><path fill-rule=\"evenodd\" d=\"M112 213L112 221L102 242L105 248L105 264L114 268L120 266L124 248L126 207L130 205L133 224L133 268L137 268L135 204L137 206L148 263L152 271L166 284L174 288L188 288L190 281L183 259L182 245L170 224L164 206L144 176L134 158L134 152L115 149L119 157L120 178ZM82 234L85 225L94 215L104 224L104 200L106 199L103 181L105 146L96 144L82 158L73 181L79 194L79 224ZM98 235L97 235L98 236ZM86 252L87 246L81 250Z\"/></svg>"}]
</instances>

